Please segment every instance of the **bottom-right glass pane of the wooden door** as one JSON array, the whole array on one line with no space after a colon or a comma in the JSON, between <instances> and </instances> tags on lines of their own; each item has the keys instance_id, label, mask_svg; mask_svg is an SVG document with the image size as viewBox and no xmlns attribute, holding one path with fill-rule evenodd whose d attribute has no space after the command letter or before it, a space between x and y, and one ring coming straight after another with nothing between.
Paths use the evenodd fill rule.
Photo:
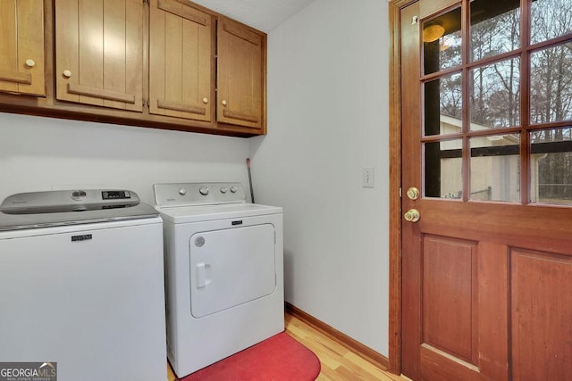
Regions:
<instances>
[{"instance_id":1,"label":"bottom-right glass pane of the wooden door","mask_svg":"<svg viewBox=\"0 0 572 381\"><path fill-rule=\"evenodd\" d=\"M533 203L572 204L572 127L530 133Z\"/></svg>"}]
</instances>

